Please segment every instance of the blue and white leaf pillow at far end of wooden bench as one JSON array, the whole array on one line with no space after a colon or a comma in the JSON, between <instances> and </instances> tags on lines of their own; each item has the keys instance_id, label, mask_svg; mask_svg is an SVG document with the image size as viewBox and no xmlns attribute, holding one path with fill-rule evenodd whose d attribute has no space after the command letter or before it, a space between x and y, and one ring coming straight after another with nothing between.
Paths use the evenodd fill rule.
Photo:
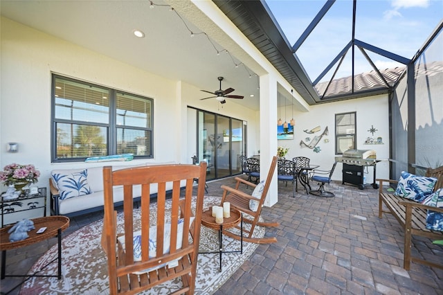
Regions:
<instances>
[{"instance_id":1,"label":"blue and white leaf pillow at far end of wooden bench","mask_svg":"<svg viewBox=\"0 0 443 295\"><path fill-rule=\"evenodd\" d=\"M437 179L434 177L417 176L403 171L394 195L423 202L428 195L433 193L436 182Z\"/></svg>"}]
</instances>

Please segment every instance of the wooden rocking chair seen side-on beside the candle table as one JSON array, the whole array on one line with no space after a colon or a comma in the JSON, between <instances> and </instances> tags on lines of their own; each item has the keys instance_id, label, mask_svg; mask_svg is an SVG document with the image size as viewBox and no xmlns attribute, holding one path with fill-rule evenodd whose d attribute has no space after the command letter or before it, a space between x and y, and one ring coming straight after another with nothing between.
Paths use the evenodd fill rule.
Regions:
<instances>
[{"instance_id":1,"label":"wooden rocking chair seen side-on beside the candle table","mask_svg":"<svg viewBox=\"0 0 443 295\"><path fill-rule=\"evenodd\" d=\"M224 202L230 202L230 206L233 208L236 208L238 211L242 213L246 213L248 215L251 215L253 219L248 219L248 217L245 217L243 219L244 222L248 222L251 224L251 229L243 229L243 240L246 242L253 242L257 244L269 244L277 242L277 239L275 237L273 238L254 238L253 232L255 229L255 226L279 226L278 222L260 222L260 213L262 212L262 206L264 203L264 200L266 199L266 195L268 193L269 185L271 184L271 180L274 174L275 166L277 166L277 157L273 157L271 162L271 167L269 168L268 175L266 177L266 181L264 182L264 185L262 183L259 184L253 184L252 182L249 182L245 179L241 179L239 177L235 177L235 180L237 180L237 184L235 185L235 188L230 188L229 186L221 186L223 188L223 196L221 197L221 204ZM253 195L255 194L256 190L261 190L261 186L263 188L263 191L261 195L257 195L257 197L253 197L253 195L248 195L247 193L242 192L239 190L240 183L246 184L246 186L252 186L255 188ZM251 210L250 201L257 203L257 210L253 211ZM221 205L222 206L222 205ZM239 226L236 226L237 229L239 229ZM232 233L231 231L223 231L224 235L228 235L231 238L235 238L236 240L240 240L241 237L239 235L236 235L235 233ZM245 235L246 234L246 235Z\"/></svg>"}]
</instances>

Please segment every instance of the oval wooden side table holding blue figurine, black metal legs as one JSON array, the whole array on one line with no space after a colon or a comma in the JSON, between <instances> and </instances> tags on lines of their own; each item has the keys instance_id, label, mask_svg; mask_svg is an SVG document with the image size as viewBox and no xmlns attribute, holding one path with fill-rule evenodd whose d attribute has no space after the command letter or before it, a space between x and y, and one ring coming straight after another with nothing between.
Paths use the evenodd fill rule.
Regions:
<instances>
[{"instance_id":1,"label":"oval wooden side table holding blue figurine, black metal legs","mask_svg":"<svg viewBox=\"0 0 443 295\"><path fill-rule=\"evenodd\" d=\"M14 225L6 226L0 229L0 251L1 251L1 279L6 276L24 276L32 278L33 276L53 276L57 277L59 280L62 278L62 231L68 228L69 226L69 218L65 216L48 216L48 217L38 217L32 219L34 222L35 229L32 231L28 231L29 237L25 240L10 242L9 241L9 229ZM37 233L37 231L46 227L46 231L44 233ZM39 271L36 271L34 274L24 274L24 275L6 275L6 250L17 249L20 247L28 246L30 244L35 244L37 242L41 242L43 240L48 240L49 238L53 238L57 236L58 238L58 256L54 258L47 265L42 267ZM45 269L48 265L53 263L55 260L58 260L58 271L57 275L37 275L40 271ZM19 285L24 283L26 280L21 282ZM19 287L19 285L15 286L13 289ZM12 291L11 289L10 291Z\"/></svg>"}]
</instances>

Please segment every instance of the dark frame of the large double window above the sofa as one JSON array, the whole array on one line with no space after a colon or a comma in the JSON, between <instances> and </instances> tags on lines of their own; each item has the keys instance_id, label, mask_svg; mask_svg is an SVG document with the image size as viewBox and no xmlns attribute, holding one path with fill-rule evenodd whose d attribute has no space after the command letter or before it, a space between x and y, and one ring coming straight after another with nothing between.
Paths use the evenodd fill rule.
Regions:
<instances>
[{"instance_id":1,"label":"dark frame of the large double window above the sofa","mask_svg":"<svg viewBox=\"0 0 443 295\"><path fill-rule=\"evenodd\" d=\"M87 122L84 120L66 120L55 118L55 81L57 79L62 79L66 81L71 81L75 83L84 84L89 87L99 87L102 89L109 90L109 120L108 123L96 123L96 122ZM138 126L123 126L117 125L117 93L124 93L128 96L133 96L136 98L141 98L144 100L148 100L150 102L150 113L147 113L149 118L149 126L150 127L138 127ZM52 73L51 74L51 163L69 163L69 162L82 162L87 157L75 157L75 158L60 158L57 157L57 124L66 123L66 124L74 124L74 125L90 125L97 127L106 127L107 128L107 141L106 141L106 150L107 155L117 154L118 143L117 143L117 130L121 128L125 129L136 129L143 130L145 133L149 134L150 138L147 142L146 147L150 149L150 154L148 155L136 155L134 154L134 159L153 159L154 158L154 99L146 96L140 96L135 93L130 93L128 91L122 91L120 89L113 89L111 87L102 86L100 84L94 84L91 82L87 82L84 80L79 80L76 78L69 78L64 75Z\"/></svg>"}]
</instances>

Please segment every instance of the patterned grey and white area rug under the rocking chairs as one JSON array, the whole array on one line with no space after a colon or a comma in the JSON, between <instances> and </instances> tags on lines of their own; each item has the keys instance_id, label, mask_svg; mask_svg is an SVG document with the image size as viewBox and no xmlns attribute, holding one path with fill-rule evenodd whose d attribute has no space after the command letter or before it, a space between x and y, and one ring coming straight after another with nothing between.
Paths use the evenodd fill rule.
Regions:
<instances>
[{"instance_id":1,"label":"patterned grey and white area rug under the rocking chairs","mask_svg":"<svg viewBox=\"0 0 443 295\"><path fill-rule=\"evenodd\" d=\"M205 196L204 211L209 210L213 204L219 203L220 197ZM170 202L168 204L170 205ZM151 204L151 206L154 209L156 204ZM138 209L134 210L134 215L136 214L140 214ZM119 219L122 216L123 213L118 214ZM156 215L152 214L151 218L154 220ZM109 294L107 259L100 245L102 226L103 222L99 220L63 237L62 279L30 278L21 287L21 294ZM246 227L248 224L244 224L244 226ZM217 231L201 226L200 235L200 252L217 251ZM255 236L262 238L264 228L256 228ZM223 242L225 251L239 250L240 242L238 240L223 236ZM199 254L195 294L213 294L217 291L256 248L257 244L243 242L243 254L224 253L221 272L219 272L218 253ZM35 262L29 273L37 271L55 257L57 257L57 245L44 253L42 258ZM57 274L57 263L49 265L44 274ZM170 294L179 285L181 285L181 281L177 279L172 283L165 283L141 294Z\"/></svg>"}]
</instances>

